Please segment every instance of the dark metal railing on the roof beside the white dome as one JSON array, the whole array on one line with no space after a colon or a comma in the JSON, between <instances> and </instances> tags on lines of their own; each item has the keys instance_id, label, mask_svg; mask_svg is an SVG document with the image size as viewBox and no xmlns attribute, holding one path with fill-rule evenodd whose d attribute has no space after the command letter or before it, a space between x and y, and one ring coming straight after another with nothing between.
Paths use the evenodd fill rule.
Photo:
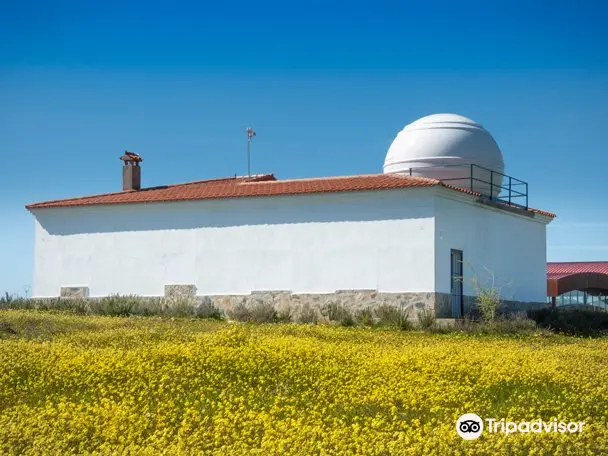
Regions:
<instances>
[{"instance_id":1,"label":"dark metal railing on the roof beside the white dome","mask_svg":"<svg viewBox=\"0 0 608 456\"><path fill-rule=\"evenodd\" d=\"M412 176L412 173L420 173L422 174L425 170L430 171L433 167L417 167L410 168L409 175ZM499 201L501 203L508 204L509 206L520 207L522 209L528 209L528 183L524 182L520 179L516 179L513 176L509 176L507 174L499 173L498 171L494 171L489 168L485 168L483 166L475 165L475 164L462 164L462 165L441 165L437 166L437 168L462 168L468 170L468 175L463 175L461 177L450 177L447 179L440 179L442 182L450 182L450 181L460 181L457 187L463 187L462 182L468 182L469 186L464 186L464 188L468 188L469 190L477 193L482 193L479 189L475 188L475 184L484 184L489 186L489 191L487 194L482 193L483 196L489 198L492 201ZM477 170L477 173L475 173ZM489 173L489 181L484 179L488 178ZM464 174L464 173L463 173ZM482 178L484 177L484 178ZM502 183L500 183L502 180ZM506 181L506 182L505 182ZM516 190L515 187L521 189ZM496 196L494 196L494 191L496 190ZM519 198L519 199L518 199ZM524 202L521 202L521 199Z\"/></svg>"}]
</instances>

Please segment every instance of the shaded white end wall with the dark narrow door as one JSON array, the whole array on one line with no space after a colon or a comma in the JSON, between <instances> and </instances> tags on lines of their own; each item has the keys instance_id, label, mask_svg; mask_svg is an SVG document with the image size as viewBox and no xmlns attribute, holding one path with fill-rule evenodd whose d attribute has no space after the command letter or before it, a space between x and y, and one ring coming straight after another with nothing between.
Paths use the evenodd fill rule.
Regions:
<instances>
[{"instance_id":1,"label":"shaded white end wall with the dark narrow door","mask_svg":"<svg viewBox=\"0 0 608 456\"><path fill-rule=\"evenodd\" d=\"M501 288L506 300L545 302L547 296L546 222L469 204L444 191L435 202L435 284L450 292L450 250L463 251L465 295L474 296L473 278ZM544 221L543 221L544 220Z\"/></svg>"}]
</instances>

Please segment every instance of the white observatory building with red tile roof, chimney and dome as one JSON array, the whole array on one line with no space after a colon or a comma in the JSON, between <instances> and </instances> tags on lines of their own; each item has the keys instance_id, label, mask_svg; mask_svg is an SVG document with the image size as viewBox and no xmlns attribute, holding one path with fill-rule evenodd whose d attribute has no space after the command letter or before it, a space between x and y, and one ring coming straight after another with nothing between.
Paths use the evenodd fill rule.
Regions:
<instances>
[{"instance_id":1,"label":"white observatory building with red tile roof, chimney and dome","mask_svg":"<svg viewBox=\"0 0 608 456\"><path fill-rule=\"evenodd\" d=\"M500 149L464 117L406 126L381 174L142 189L140 159L122 158L123 191L27 206L34 297L399 302L449 317L477 278L516 304L546 301L554 215L527 207L527 184L509 189Z\"/></svg>"}]
</instances>

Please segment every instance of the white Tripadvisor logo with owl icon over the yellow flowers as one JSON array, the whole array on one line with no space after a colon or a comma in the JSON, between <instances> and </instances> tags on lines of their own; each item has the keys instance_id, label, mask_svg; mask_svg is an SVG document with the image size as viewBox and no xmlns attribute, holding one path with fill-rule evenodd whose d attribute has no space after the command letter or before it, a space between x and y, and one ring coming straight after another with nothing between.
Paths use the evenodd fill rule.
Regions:
<instances>
[{"instance_id":1,"label":"white Tripadvisor logo with owl icon over the yellow flowers","mask_svg":"<svg viewBox=\"0 0 608 456\"><path fill-rule=\"evenodd\" d=\"M515 433L527 433L527 432L559 432L564 434L566 432L573 434L575 432L582 432L584 421L506 421L504 418L497 420L496 418L485 419L485 429L491 434L515 434ZM484 420L475 413L465 413L458 421L456 421L456 432L460 437L465 440L475 440L478 438L484 430Z\"/></svg>"}]
</instances>

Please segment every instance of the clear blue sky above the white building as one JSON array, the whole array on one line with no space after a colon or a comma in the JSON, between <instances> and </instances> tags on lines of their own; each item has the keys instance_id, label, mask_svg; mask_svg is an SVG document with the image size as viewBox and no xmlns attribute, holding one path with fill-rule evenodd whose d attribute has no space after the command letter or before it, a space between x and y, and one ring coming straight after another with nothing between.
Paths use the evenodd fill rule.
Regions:
<instances>
[{"instance_id":1,"label":"clear blue sky above the white building","mask_svg":"<svg viewBox=\"0 0 608 456\"><path fill-rule=\"evenodd\" d=\"M608 7L595 2L0 3L0 292L31 285L30 202L253 171L381 172L403 126L482 123L548 259L608 259Z\"/></svg>"}]
</instances>

